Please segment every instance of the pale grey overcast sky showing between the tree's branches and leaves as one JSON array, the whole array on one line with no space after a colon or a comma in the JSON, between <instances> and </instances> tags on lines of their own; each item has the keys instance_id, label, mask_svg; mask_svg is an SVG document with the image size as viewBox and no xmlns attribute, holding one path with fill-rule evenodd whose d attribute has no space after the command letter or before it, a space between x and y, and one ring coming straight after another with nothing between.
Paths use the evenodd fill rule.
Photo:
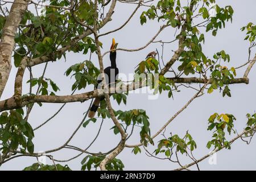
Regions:
<instances>
[{"instance_id":1,"label":"pale grey overcast sky showing between the tree's branches and leaves","mask_svg":"<svg viewBox=\"0 0 256 182\"><path fill-rule=\"evenodd\" d=\"M205 34L205 44L203 45L203 51L209 57L212 57L214 53L225 49L231 57L229 67L238 66L247 61L247 49L249 43L244 41L245 32L241 32L240 28L245 26L249 22L256 22L255 6L256 2L253 0L247 1L217 1L220 6L232 5L234 9L233 23L226 23L226 28L218 31L217 36L213 37L211 33ZM101 32L106 32L114 28L119 27L127 16L135 9L136 5L126 5L117 2L115 7L115 13L113 14L113 20L104 28ZM148 21L141 26L139 23L139 16L143 9L138 10L133 19L127 24L121 31L114 32L108 36L101 37L103 43L103 52L108 51L112 38L115 38L118 42L119 48L138 48L144 46L159 30L159 24L157 21ZM156 40L170 41L175 38L175 30L171 27L166 28ZM134 67L144 59L148 52L154 51L156 48L161 50L160 44L151 44L147 48L139 52L117 52L117 66L119 72L129 74L134 72ZM164 47L164 60L170 59L172 50L176 50L177 44L172 43ZM251 53L254 56L255 49ZM46 72L46 77L52 78L53 81L61 88L59 95L71 93L71 85L73 79L64 76L64 72L73 64L80 63L88 59L87 55L81 53L68 53L67 61L64 59L57 61L56 63L49 63ZM95 65L98 65L96 56L92 57L92 61ZM104 57L104 65L109 65L109 56ZM33 67L34 77L39 77L42 74L42 66L39 65ZM174 65L174 68L177 64ZM244 68L238 71L237 77L242 77ZM196 140L197 149L194 152L195 158L199 159L201 156L208 154L209 150L205 147L208 140L212 137L212 132L207 131L208 118L213 113L229 113L234 114L237 121L234 122L238 132L241 132L246 125L246 114L255 112L255 92L256 92L256 69L253 68L249 74L250 84L238 84L230 85L232 97L222 97L222 93L214 91L212 94L205 94L202 97L194 100L191 105L187 107L166 129L166 135L168 133L179 134L183 137L185 132L189 130L189 133ZM9 81L6 85L5 92L3 93L2 100L13 96L14 77L16 74L16 68L13 67ZM28 80L28 72L26 72L26 78ZM28 92L28 85L26 81L23 83L23 94ZM80 92L87 92L92 90L90 86ZM168 93L163 93L157 100L148 100L148 94L129 94L127 98L127 105L121 104L120 106L112 100L112 105L115 110L130 110L130 109L144 109L147 115L150 117L151 134L158 131L164 123L168 121L184 104L195 94L195 90L182 88L181 92L174 92L174 100L168 99ZM254 93L254 94L253 94ZM90 101L84 103L71 103L67 104L60 114L57 115L52 121L47 123L44 127L35 131L35 152L46 151L52 148L56 148L64 144L64 142L73 133L73 130L81 122L83 113L88 109ZM54 114L61 104L43 104L43 107L35 105L30 115L29 122L32 127L40 125L40 123L46 121L52 114ZM98 127L100 126L100 119L96 123L91 123L86 129L81 128L76 136L72 139L72 145L86 148L88 144L96 136ZM113 122L110 119L105 119L100 136L96 142L89 148L91 152L105 152L115 147L119 142L119 135L114 135L112 130ZM228 137L229 138L229 137ZM162 139L159 136L155 139L155 143ZM139 142L139 129L135 129L134 135L127 142L128 144L136 144ZM148 147L149 151L154 151L156 146ZM144 154L134 155L131 153L132 148L125 148L125 150L117 156L125 164L126 170L139 170L139 169L155 169L155 170L169 170L174 169L177 164L170 163L168 160L158 160L149 158ZM256 169L256 140L251 141L250 145L247 145L241 140L237 140L232 144L232 150L222 150L217 153L217 164L210 165L208 159L199 164L200 169L208 170L221 170L221 169ZM61 150L53 153L55 159L68 159L72 156L79 154L72 150ZM79 158L72 160L68 164L71 169L80 169L81 160L86 154ZM181 163L189 163L191 160L187 159L187 156L180 157ZM26 166L30 166L32 163L36 163L35 158L22 157L11 160L8 163L2 165L3 169L23 169ZM52 164L47 159L47 164ZM192 169L195 169L193 167Z\"/></svg>"}]
</instances>

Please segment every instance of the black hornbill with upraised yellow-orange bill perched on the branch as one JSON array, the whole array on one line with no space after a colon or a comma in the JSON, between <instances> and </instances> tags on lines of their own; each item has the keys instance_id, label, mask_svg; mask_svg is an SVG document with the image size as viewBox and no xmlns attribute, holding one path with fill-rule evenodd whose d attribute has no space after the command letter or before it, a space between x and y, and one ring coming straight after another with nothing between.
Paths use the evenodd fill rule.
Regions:
<instances>
[{"instance_id":1,"label":"black hornbill with upraised yellow-orange bill perched on the branch","mask_svg":"<svg viewBox=\"0 0 256 182\"><path fill-rule=\"evenodd\" d=\"M117 44L115 43L115 39L112 39L112 45L110 47L110 50L113 50L115 48L117 48ZM106 78L106 84L112 86L114 82L117 81L118 78L118 68L117 68L117 64L115 63L115 59L117 58L117 52L116 51L110 51L110 62L111 62L111 66L107 67L104 69L104 73L105 73L105 78ZM98 77L98 85L102 85L102 80L100 79L101 76ZM100 101L104 100L104 96L101 97L97 97L95 98L92 107L90 107L90 111L88 114L89 118L93 118L94 115L96 114L96 111L98 109L98 106L100 105Z\"/></svg>"}]
</instances>

